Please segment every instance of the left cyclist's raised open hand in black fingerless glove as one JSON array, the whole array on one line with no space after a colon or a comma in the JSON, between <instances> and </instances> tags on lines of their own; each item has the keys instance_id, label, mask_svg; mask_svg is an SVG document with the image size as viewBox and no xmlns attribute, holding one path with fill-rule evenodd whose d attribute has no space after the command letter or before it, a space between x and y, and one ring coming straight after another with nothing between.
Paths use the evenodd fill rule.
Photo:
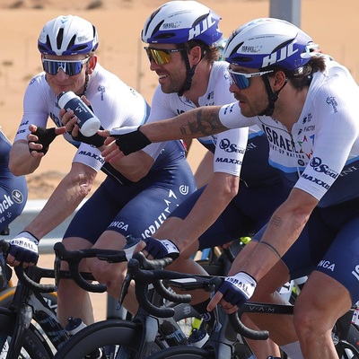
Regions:
<instances>
[{"instance_id":1,"label":"left cyclist's raised open hand in black fingerless glove","mask_svg":"<svg viewBox=\"0 0 359 359\"><path fill-rule=\"evenodd\" d=\"M54 141L55 137L65 132L63 127L37 127L30 126L31 134L28 136L29 151L44 153L48 152L48 146ZM32 148L31 148L32 147Z\"/></svg>"}]
</instances>

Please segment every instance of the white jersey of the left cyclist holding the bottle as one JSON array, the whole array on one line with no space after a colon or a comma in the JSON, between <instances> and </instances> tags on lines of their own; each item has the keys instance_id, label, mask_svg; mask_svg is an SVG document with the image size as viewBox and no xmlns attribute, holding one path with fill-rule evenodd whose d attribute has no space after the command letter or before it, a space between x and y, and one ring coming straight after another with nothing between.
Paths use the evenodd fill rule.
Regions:
<instances>
[{"instance_id":1,"label":"white jersey of the left cyclist holding the bottle","mask_svg":"<svg viewBox=\"0 0 359 359\"><path fill-rule=\"evenodd\" d=\"M139 126L149 114L149 106L144 98L99 63L90 76L85 95L91 102L94 113L100 118L103 128ZM57 96L48 85L45 72L37 74L25 92L22 122L14 141L26 140L31 124L47 127L48 117L57 127L62 127L59 111ZM66 133L64 137L78 147L74 162L86 164L95 171L101 170L104 161L99 149L74 141L70 134Z\"/></svg>"}]
</instances>

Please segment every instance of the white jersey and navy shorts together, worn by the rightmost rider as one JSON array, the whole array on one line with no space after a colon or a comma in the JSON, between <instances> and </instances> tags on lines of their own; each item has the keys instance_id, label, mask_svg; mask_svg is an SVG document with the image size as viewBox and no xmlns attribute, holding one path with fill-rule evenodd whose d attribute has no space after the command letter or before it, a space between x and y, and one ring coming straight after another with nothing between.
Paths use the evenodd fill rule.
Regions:
<instances>
[{"instance_id":1,"label":"white jersey and navy shorts together, worn by the rightmost rider","mask_svg":"<svg viewBox=\"0 0 359 359\"><path fill-rule=\"evenodd\" d=\"M238 103L223 106L225 127L257 124L267 134L269 161L291 188L300 188L320 202L283 260L291 276L314 268L346 287L359 299L359 88L349 71L326 61L313 74L302 113L288 131L274 118L245 118ZM265 228L257 233L260 238Z\"/></svg>"}]
</instances>

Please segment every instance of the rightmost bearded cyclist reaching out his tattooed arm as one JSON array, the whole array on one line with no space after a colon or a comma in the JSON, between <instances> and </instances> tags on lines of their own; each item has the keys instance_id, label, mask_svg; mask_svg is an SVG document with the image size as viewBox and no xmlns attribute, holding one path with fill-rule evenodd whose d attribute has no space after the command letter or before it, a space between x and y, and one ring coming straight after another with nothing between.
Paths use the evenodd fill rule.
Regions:
<instances>
[{"instance_id":1,"label":"rightmost bearded cyclist reaching out his tattooed arm","mask_svg":"<svg viewBox=\"0 0 359 359\"><path fill-rule=\"evenodd\" d=\"M305 358L335 358L331 328L359 298L359 90L345 66L311 53L310 41L289 22L248 22L224 51L237 101L153 122L141 127L140 138L207 136L255 123L264 128L270 162L291 193L241 251L208 309L220 302L236 311L250 298L276 302L276 288L289 276L309 275L293 321L282 316L258 324L291 358L299 357L299 344ZM127 135L121 138L127 153L138 149L126 147Z\"/></svg>"}]
</instances>

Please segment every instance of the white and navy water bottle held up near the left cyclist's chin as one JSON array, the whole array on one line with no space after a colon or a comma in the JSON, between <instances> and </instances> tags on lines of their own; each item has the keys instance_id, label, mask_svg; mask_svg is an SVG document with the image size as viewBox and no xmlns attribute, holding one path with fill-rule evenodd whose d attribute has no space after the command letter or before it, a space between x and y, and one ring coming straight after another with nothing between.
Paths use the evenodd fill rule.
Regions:
<instances>
[{"instance_id":1,"label":"white and navy water bottle held up near the left cyclist's chin","mask_svg":"<svg viewBox=\"0 0 359 359\"><path fill-rule=\"evenodd\" d=\"M77 125L83 136L90 137L97 133L101 127L100 119L74 92L61 92L58 106L66 111L73 110L77 118Z\"/></svg>"}]
</instances>

